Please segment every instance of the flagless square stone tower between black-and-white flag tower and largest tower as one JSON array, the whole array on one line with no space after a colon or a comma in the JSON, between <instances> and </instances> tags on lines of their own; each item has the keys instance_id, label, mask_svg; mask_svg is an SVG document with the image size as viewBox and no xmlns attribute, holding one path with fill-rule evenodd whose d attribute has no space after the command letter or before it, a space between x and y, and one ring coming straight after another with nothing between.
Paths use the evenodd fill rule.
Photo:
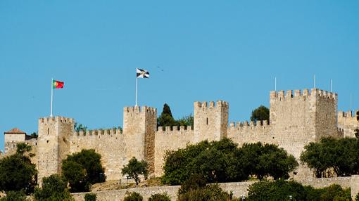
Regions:
<instances>
[{"instance_id":1,"label":"flagless square stone tower between black-and-white flag tower and largest tower","mask_svg":"<svg viewBox=\"0 0 359 201\"><path fill-rule=\"evenodd\" d=\"M227 136L228 109L228 103L222 100L216 104L210 101L209 106L207 102L194 102L194 143Z\"/></svg>"}]
</instances>

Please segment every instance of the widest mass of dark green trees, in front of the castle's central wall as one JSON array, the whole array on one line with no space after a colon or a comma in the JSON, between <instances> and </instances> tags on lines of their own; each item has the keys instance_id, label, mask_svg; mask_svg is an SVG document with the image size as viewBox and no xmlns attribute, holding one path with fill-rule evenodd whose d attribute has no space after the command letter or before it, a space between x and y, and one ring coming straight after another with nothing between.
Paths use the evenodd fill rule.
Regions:
<instances>
[{"instance_id":1,"label":"widest mass of dark green trees, in front of the castle's central wall","mask_svg":"<svg viewBox=\"0 0 359 201\"><path fill-rule=\"evenodd\" d=\"M277 145L254 143L238 148L237 144L224 138L168 151L162 181L179 185L192 174L204 176L208 183L244 181L252 175L258 179L266 176L286 179L297 166L294 157Z\"/></svg>"}]
</instances>

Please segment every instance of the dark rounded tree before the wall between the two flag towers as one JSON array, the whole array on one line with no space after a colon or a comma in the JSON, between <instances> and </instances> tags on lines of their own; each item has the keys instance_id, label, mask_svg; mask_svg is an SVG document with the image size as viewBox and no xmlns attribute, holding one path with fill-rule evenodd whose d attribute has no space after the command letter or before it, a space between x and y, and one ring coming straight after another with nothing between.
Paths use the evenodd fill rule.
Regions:
<instances>
[{"instance_id":1,"label":"dark rounded tree before the wall between the two flag towers","mask_svg":"<svg viewBox=\"0 0 359 201\"><path fill-rule=\"evenodd\" d=\"M70 184L71 192L88 191L93 183L106 180L101 164L101 155L95 150L81 150L80 153L68 155L62 164L63 176Z\"/></svg>"}]
</instances>

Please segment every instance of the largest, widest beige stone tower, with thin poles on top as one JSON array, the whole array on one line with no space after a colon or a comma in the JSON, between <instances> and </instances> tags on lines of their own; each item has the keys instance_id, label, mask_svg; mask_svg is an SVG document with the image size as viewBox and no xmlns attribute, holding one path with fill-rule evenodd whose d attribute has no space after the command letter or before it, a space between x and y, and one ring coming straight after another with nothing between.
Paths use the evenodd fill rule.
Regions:
<instances>
[{"instance_id":1,"label":"largest, widest beige stone tower, with thin poles on top","mask_svg":"<svg viewBox=\"0 0 359 201\"><path fill-rule=\"evenodd\" d=\"M270 124L276 141L294 157L322 136L336 136L337 95L319 89L270 92Z\"/></svg>"}]
</instances>

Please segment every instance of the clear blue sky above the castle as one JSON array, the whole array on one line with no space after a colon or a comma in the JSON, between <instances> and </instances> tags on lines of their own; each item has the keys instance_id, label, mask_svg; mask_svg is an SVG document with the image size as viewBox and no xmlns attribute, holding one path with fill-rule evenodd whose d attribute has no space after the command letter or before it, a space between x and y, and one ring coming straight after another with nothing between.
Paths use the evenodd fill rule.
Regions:
<instances>
[{"instance_id":1,"label":"clear blue sky above the castle","mask_svg":"<svg viewBox=\"0 0 359 201\"><path fill-rule=\"evenodd\" d=\"M139 105L175 117L229 101L229 121L269 106L274 89L339 93L359 108L359 1L0 1L0 150L4 131L37 131L50 113L90 129L122 126Z\"/></svg>"}]
</instances>

